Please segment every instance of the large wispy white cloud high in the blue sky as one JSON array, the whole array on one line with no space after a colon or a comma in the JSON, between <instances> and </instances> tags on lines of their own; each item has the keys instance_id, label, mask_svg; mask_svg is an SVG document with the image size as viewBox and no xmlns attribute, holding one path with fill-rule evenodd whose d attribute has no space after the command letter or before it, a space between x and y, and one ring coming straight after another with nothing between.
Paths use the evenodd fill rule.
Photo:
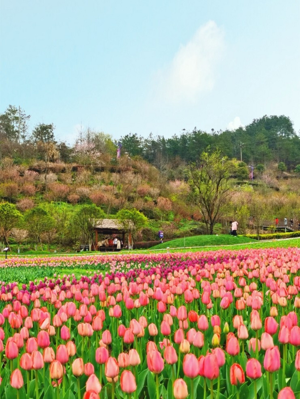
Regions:
<instances>
[{"instance_id":1,"label":"large wispy white cloud high in the blue sky","mask_svg":"<svg viewBox=\"0 0 300 399\"><path fill-rule=\"evenodd\" d=\"M155 77L159 97L169 102L195 101L215 84L215 67L225 48L224 34L214 21L201 26L181 45L172 62Z\"/></svg>"}]
</instances>

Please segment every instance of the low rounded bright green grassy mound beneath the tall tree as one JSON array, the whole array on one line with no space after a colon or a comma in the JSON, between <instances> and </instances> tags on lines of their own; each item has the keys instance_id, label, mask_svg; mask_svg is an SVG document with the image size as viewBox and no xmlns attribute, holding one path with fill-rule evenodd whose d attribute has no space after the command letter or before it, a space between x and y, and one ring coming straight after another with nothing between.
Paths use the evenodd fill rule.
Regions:
<instances>
[{"instance_id":1,"label":"low rounded bright green grassy mound beneath the tall tree","mask_svg":"<svg viewBox=\"0 0 300 399\"><path fill-rule=\"evenodd\" d=\"M208 247L214 245L236 245L254 243L256 240L246 238L242 235L234 237L230 234L221 235L195 235L192 237L177 238L175 240L166 241L151 247L151 249L169 248L188 248L188 247Z\"/></svg>"}]
</instances>

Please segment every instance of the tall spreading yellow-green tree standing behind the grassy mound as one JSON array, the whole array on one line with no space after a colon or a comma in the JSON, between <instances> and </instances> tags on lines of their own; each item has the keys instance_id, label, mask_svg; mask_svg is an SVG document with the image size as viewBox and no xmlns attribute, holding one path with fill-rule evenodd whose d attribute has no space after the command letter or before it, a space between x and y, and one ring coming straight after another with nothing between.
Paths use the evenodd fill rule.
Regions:
<instances>
[{"instance_id":1,"label":"tall spreading yellow-green tree standing behind the grassy mound","mask_svg":"<svg viewBox=\"0 0 300 399\"><path fill-rule=\"evenodd\" d=\"M203 152L199 165L191 164L191 200L199 207L207 234L213 234L214 225L223 214L230 198L228 182L234 162L222 157L220 150Z\"/></svg>"}]
</instances>

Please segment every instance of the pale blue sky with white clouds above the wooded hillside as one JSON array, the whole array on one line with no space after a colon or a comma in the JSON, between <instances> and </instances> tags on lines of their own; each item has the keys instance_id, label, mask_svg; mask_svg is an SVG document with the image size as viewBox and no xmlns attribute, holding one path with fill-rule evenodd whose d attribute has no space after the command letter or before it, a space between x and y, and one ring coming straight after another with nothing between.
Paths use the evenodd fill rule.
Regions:
<instances>
[{"instance_id":1,"label":"pale blue sky with white clouds above the wooded hillside","mask_svg":"<svg viewBox=\"0 0 300 399\"><path fill-rule=\"evenodd\" d=\"M0 0L0 113L15 105L72 145L235 129L300 131L300 2Z\"/></svg>"}]
</instances>

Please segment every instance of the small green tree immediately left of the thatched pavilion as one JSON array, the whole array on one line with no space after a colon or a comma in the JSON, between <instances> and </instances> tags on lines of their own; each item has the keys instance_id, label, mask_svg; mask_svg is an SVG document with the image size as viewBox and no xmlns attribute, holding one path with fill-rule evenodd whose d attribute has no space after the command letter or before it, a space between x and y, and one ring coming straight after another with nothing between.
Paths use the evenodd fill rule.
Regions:
<instances>
[{"instance_id":1,"label":"small green tree immediately left of the thatched pavilion","mask_svg":"<svg viewBox=\"0 0 300 399\"><path fill-rule=\"evenodd\" d=\"M89 243L89 250L91 251L91 244L93 241L93 234L97 225L105 218L103 210L96 205L81 205L75 213L75 220L77 221L77 228L81 231L82 239Z\"/></svg>"}]
</instances>

